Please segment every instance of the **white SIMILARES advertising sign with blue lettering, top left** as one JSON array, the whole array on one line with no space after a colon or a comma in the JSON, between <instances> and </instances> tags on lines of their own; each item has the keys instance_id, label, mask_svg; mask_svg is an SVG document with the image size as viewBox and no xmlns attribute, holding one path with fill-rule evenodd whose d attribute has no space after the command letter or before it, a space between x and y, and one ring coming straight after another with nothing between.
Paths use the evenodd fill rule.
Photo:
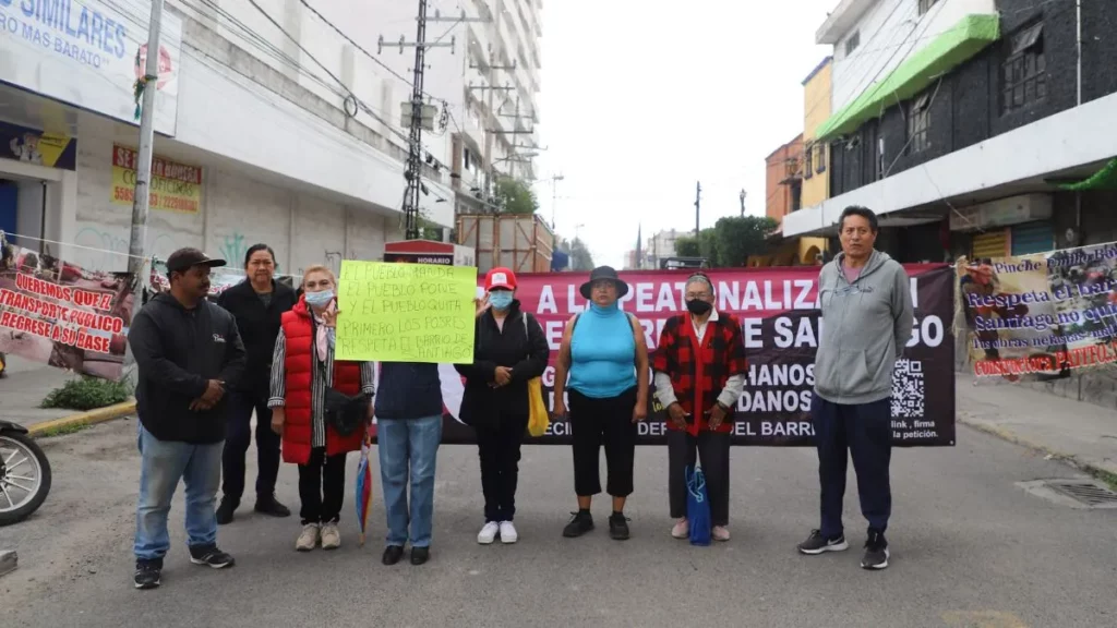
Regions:
<instances>
[{"instance_id":1,"label":"white SIMILARES advertising sign with blue lettering, top left","mask_svg":"<svg viewBox=\"0 0 1117 628\"><path fill-rule=\"evenodd\" d=\"M0 0L0 82L136 124L150 17L144 0ZM181 48L182 19L164 10L155 96L164 135L175 132Z\"/></svg>"}]
</instances>

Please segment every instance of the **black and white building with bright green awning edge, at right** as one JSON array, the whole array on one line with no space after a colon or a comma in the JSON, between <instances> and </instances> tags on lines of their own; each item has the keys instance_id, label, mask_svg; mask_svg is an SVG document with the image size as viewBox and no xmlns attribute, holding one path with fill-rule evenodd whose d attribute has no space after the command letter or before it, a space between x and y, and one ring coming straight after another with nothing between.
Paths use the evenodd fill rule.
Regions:
<instances>
[{"instance_id":1,"label":"black and white building with bright green awning edge, at right","mask_svg":"<svg viewBox=\"0 0 1117 628\"><path fill-rule=\"evenodd\" d=\"M863 204L904 261L1117 239L1115 23L1114 2L842 0L817 34L830 198L784 235L832 236Z\"/></svg>"}]
</instances>

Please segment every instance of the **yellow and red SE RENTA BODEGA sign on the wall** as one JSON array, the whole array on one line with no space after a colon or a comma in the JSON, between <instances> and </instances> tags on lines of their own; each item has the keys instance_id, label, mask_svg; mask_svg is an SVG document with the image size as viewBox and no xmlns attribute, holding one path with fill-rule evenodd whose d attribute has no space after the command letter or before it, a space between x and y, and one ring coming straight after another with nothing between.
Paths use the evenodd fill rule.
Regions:
<instances>
[{"instance_id":1,"label":"yellow and red SE RENTA BODEGA sign on the wall","mask_svg":"<svg viewBox=\"0 0 1117 628\"><path fill-rule=\"evenodd\" d=\"M132 206L139 158L140 154L127 146L113 145L113 204ZM153 158L150 190L153 210L198 213L202 202L202 169Z\"/></svg>"}]
</instances>

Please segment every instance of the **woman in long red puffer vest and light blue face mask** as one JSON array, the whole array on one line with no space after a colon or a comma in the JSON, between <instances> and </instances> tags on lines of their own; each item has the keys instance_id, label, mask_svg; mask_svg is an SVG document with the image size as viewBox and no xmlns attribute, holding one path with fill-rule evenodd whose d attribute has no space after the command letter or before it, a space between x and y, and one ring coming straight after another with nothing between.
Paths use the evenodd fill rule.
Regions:
<instances>
[{"instance_id":1,"label":"woman in long red puffer vest and light blue face mask","mask_svg":"<svg viewBox=\"0 0 1117 628\"><path fill-rule=\"evenodd\" d=\"M283 314L271 362L271 428L283 437L283 459L298 465L303 531L295 549L308 552L341 545L337 521L345 493L345 455L360 451L365 430L342 436L325 425L326 388L364 393L372 420L375 370L372 362L335 362L337 279L330 268L303 275L303 296ZM327 381L328 380L328 381Z\"/></svg>"}]
</instances>

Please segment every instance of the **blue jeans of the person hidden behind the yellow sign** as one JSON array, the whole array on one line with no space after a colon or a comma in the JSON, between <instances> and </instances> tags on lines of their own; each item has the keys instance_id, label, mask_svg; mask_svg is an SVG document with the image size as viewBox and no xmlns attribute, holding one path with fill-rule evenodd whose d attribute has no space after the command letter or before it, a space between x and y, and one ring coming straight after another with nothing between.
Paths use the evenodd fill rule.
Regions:
<instances>
[{"instance_id":1,"label":"blue jeans of the person hidden behind the yellow sign","mask_svg":"<svg viewBox=\"0 0 1117 628\"><path fill-rule=\"evenodd\" d=\"M376 422L380 477L388 514L388 545L402 548L410 540L412 548L430 546L435 514L435 460L441 440L441 415L422 419L381 419Z\"/></svg>"}]
</instances>

